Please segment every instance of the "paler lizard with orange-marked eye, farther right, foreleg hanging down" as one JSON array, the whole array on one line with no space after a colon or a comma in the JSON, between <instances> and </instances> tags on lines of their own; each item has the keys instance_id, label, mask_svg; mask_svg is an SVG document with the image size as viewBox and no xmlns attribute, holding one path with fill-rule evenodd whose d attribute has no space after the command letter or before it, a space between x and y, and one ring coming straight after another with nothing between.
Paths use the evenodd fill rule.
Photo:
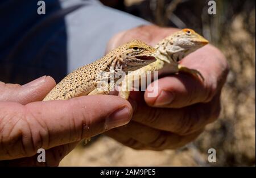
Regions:
<instances>
[{"instance_id":1,"label":"paler lizard with orange-marked eye, farther right, foreleg hanging down","mask_svg":"<svg viewBox=\"0 0 256 178\"><path fill-rule=\"evenodd\" d=\"M119 96L128 100L131 90L130 87L135 78L136 80L141 80L142 76L146 76L147 72L159 71L162 74L185 72L204 80L204 77L199 71L183 67L179 64L179 61L189 55L189 53L196 51L208 43L208 40L203 38L203 36L189 28L184 28L167 36L154 47L156 49L155 53L152 54L156 58L154 63L146 65L125 76L121 89L119 90Z\"/></svg>"}]
</instances>

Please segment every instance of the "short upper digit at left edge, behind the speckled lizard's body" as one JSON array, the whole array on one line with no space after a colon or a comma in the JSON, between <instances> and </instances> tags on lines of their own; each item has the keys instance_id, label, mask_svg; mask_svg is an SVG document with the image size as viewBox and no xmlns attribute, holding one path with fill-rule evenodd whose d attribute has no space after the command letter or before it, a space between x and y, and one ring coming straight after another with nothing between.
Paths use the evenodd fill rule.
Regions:
<instances>
[{"instance_id":1,"label":"short upper digit at left edge, behind the speckled lizard's body","mask_svg":"<svg viewBox=\"0 0 256 178\"><path fill-rule=\"evenodd\" d=\"M0 82L0 101L14 101L23 105L42 101L55 85L55 80L50 76L37 78L25 85Z\"/></svg>"}]
</instances>

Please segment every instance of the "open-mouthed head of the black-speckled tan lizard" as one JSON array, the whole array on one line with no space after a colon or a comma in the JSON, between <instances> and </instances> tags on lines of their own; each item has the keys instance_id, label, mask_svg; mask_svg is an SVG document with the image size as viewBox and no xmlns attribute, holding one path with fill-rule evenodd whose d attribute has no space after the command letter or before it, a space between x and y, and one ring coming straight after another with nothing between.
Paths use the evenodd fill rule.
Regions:
<instances>
[{"instance_id":1,"label":"open-mouthed head of the black-speckled tan lizard","mask_svg":"<svg viewBox=\"0 0 256 178\"><path fill-rule=\"evenodd\" d=\"M125 50L119 56L119 64L124 72L135 71L154 61L155 48L139 40L132 40L124 45Z\"/></svg>"}]
</instances>

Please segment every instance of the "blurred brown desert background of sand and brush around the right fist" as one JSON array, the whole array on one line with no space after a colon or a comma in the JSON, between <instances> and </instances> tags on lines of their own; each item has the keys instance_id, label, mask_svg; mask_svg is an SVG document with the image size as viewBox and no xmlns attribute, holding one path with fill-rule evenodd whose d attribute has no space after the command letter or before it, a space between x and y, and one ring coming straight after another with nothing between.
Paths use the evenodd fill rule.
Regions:
<instances>
[{"instance_id":1,"label":"blurred brown desert background of sand and brush around the right fist","mask_svg":"<svg viewBox=\"0 0 256 178\"><path fill-rule=\"evenodd\" d=\"M100 135L80 144L60 166L238 166L255 165L255 1L108 0L105 5L159 26L193 28L225 54L230 65L220 118L195 142L179 150L137 151ZM208 162L214 148L217 162Z\"/></svg>"}]
</instances>

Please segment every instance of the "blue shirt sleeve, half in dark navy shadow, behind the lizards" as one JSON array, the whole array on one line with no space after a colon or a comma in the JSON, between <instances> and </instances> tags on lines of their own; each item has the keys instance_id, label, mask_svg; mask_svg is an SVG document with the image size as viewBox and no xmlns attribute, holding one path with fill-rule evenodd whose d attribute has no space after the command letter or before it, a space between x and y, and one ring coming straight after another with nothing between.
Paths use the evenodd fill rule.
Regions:
<instances>
[{"instance_id":1,"label":"blue shirt sleeve, half in dark navy shadow, behind the lizards","mask_svg":"<svg viewBox=\"0 0 256 178\"><path fill-rule=\"evenodd\" d=\"M104 55L117 32L146 20L97 0L0 1L0 81L23 84L43 75L59 82L65 74Z\"/></svg>"}]
</instances>

